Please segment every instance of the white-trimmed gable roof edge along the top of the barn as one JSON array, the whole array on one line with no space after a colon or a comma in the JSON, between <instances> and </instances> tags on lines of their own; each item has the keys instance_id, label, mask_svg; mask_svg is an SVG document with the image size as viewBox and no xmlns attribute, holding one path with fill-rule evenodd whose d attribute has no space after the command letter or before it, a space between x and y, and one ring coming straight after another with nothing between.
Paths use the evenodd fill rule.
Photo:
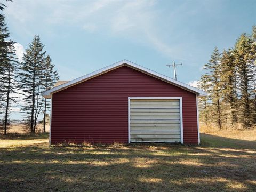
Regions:
<instances>
[{"instance_id":1,"label":"white-trimmed gable roof edge along the top of the barn","mask_svg":"<svg viewBox=\"0 0 256 192\"><path fill-rule=\"evenodd\" d=\"M53 93L59 92L59 91L61 91L63 89L67 89L70 86L76 85L78 83L82 83L82 82L87 81L87 80L89 80L89 79L91 79L93 77L102 75L104 73L107 73L108 71L114 70L114 69L122 67L122 66L131 67L131 68L133 68L135 70L141 71L142 73L145 73L147 75L153 76L153 77L158 78L158 79L161 79L162 81L165 81L165 82L170 83L172 85L178 86L178 87L180 87L182 89L185 89L187 91L193 92L197 96L207 96L207 93L202 91L202 90L196 89L195 87L190 86L190 85L188 85L186 83L179 82L179 81L177 81L177 80L175 80L173 78L170 78L170 77L167 77L165 75L159 74L159 73L157 73L157 72L155 72L153 70L147 69L145 67L137 65L137 64L135 64L135 63L133 63L131 61L128 61L128 60L122 60L122 61L116 62L113 65L104 67L104 68L99 69L97 71L94 71L94 72L92 72L90 74L84 75L82 77L76 78L76 79L74 79L72 81L69 81L67 83L64 83L64 84L61 84L59 86L53 87L50 90L44 91L42 93L42 95L44 97L50 97L50 95L53 94Z\"/></svg>"}]
</instances>

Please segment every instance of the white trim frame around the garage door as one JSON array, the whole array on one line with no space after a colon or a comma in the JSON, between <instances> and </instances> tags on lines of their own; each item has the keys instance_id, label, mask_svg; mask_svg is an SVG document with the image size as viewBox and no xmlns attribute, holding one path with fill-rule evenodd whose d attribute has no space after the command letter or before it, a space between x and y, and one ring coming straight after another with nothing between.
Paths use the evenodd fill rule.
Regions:
<instances>
[{"instance_id":1,"label":"white trim frame around the garage door","mask_svg":"<svg viewBox=\"0 0 256 192\"><path fill-rule=\"evenodd\" d=\"M131 99L179 99L180 101L180 140L181 140L181 144L183 144L182 97L128 97L128 142L129 143L131 143L131 118L130 118Z\"/></svg>"}]
</instances>

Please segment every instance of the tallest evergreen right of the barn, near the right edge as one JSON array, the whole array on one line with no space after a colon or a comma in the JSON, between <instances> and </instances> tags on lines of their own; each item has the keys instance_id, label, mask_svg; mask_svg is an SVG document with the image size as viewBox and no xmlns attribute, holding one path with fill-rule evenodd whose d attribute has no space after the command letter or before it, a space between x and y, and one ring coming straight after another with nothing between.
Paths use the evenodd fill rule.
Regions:
<instances>
[{"instance_id":1,"label":"tallest evergreen right of the barn, near the right edge","mask_svg":"<svg viewBox=\"0 0 256 192\"><path fill-rule=\"evenodd\" d=\"M252 39L246 34L242 34L235 44L234 56L237 67L238 88L241 99L241 120L245 128L252 125L250 98L252 96L253 83L255 78L255 64L252 51Z\"/></svg>"}]
</instances>

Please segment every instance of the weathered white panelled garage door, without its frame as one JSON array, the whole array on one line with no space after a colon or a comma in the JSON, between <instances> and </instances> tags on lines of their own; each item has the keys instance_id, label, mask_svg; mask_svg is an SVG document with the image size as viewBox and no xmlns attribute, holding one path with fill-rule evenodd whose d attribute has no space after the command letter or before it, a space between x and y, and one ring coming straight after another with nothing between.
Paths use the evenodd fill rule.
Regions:
<instances>
[{"instance_id":1,"label":"weathered white panelled garage door, without its frame","mask_svg":"<svg viewBox=\"0 0 256 192\"><path fill-rule=\"evenodd\" d=\"M130 142L182 142L180 99L130 99Z\"/></svg>"}]
</instances>

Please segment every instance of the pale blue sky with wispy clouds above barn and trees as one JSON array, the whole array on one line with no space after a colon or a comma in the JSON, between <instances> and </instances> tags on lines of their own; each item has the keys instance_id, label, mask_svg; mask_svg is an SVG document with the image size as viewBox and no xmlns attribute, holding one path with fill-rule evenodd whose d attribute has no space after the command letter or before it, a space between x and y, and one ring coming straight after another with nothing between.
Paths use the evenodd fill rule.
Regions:
<instances>
[{"instance_id":1,"label":"pale blue sky with wispy clouds above barn and trees","mask_svg":"<svg viewBox=\"0 0 256 192\"><path fill-rule=\"evenodd\" d=\"M40 35L61 80L127 59L196 81L217 46L232 47L256 25L256 1L14 0L4 11L18 55Z\"/></svg>"}]
</instances>

